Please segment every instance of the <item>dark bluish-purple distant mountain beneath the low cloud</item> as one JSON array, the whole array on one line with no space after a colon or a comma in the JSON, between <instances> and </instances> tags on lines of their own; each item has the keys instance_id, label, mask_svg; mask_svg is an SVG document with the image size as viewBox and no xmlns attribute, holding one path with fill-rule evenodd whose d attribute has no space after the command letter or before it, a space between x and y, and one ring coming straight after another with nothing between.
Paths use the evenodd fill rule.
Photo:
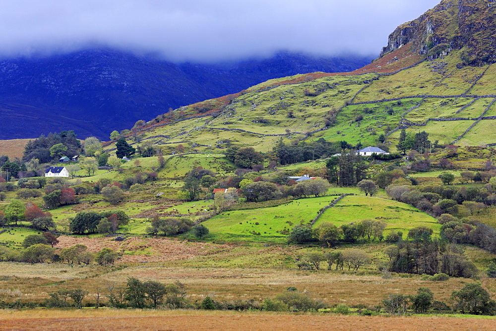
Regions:
<instances>
[{"instance_id":1,"label":"dark bluish-purple distant mountain beneath the low cloud","mask_svg":"<svg viewBox=\"0 0 496 331\"><path fill-rule=\"evenodd\" d=\"M194 102L239 92L267 79L350 71L369 58L279 54L221 64L171 62L94 49L0 61L0 139L74 130L108 139L114 129Z\"/></svg>"}]
</instances>

